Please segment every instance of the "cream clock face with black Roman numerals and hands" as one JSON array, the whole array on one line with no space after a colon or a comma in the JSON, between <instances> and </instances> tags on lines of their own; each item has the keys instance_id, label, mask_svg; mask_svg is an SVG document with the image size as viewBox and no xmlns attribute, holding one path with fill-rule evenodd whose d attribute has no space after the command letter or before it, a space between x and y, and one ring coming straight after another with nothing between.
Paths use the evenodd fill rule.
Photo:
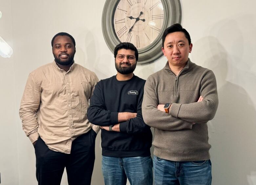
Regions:
<instances>
[{"instance_id":1,"label":"cream clock face with black Roman numerals and hands","mask_svg":"<svg viewBox=\"0 0 256 185\"><path fill-rule=\"evenodd\" d=\"M164 23L160 0L120 0L112 24L120 42L133 43L138 49L149 46Z\"/></svg>"}]
</instances>

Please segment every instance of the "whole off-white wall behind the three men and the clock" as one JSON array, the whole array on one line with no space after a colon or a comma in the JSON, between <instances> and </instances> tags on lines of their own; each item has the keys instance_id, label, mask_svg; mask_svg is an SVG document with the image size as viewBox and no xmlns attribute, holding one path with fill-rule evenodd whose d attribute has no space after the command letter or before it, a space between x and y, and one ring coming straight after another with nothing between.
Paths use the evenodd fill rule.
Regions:
<instances>
[{"instance_id":1,"label":"whole off-white wall behind the three men and the clock","mask_svg":"<svg viewBox=\"0 0 256 185\"><path fill-rule=\"evenodd\" d=\"M21 128L20 99L28 74L53 61L51 39L65 31L76 40L75 61L99 79L116 73L105 44L101 13L105 1L1 0L0 35L12 46L0 58L0 173L3 185L36 184L31 142ZM190 59L216 75L219 108L209 121L213 185L256 185L256 1L181 0L182 21L192 38ZM137 65L146 79L166 59ZM62 184L67 184L66 175ZM103 184L100 137L96 141L93 185Z\"/></svg>"}]
</instances>

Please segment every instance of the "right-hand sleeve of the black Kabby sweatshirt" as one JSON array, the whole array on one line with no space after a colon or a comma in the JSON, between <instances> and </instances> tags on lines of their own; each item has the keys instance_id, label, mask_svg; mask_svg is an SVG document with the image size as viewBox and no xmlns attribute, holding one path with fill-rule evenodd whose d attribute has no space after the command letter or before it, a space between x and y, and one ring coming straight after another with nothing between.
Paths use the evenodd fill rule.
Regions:
<instances>
[{"instance_id":1,"label":"right-hand sleeve of the black Kabby sweatshirt","mask_svg":"<svg viewBox=\"0 0 256 185\"><path fill-rule=\"evenodd\" d=\"M143 100L143 89L139 95L138 107L137 107L137 116L128 121L120 123L119 129L120 132L126 132L128 134L142 133L150 130L150 126L146 125L142 118L141 105Z\"/></svg>"}]
</instances>

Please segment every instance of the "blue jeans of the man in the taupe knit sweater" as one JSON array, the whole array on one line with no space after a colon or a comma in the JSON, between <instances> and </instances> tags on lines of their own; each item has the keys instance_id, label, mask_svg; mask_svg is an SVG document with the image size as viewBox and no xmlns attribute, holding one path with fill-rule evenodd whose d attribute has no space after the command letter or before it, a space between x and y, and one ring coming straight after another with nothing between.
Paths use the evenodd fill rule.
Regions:
<instances>
[{"instance_id":1,"label":"blue jeans of the man in the taupe knit sweater","mask_svg":"<svg viewBox=\"0 0 256 185\"><path fill-rule=\"evenodd\" d=\"M176 162L154 156L155 185L211 185L212 164L203 161Z\"/></svg>"}]
</instances>

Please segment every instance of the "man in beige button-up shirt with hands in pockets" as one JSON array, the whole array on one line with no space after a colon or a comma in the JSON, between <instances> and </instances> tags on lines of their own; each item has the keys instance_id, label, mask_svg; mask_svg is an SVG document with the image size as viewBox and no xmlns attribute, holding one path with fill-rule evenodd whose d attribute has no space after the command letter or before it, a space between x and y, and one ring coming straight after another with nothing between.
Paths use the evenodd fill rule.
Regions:
<instances>
[{"instance_id":1,"label":"man in beige button-up shirt with hands in pockets","mask_svg":"<svg viewBox=\"0 0 256 185\"><path fill-rule=\"evenodd\" d=\"M20 105L22 127L35 148L38 184L90 184L99 127L87 119L96 74L75 64L75 40L53 37L53 63L32 71Z\"/></svg>"}]
</instances>

